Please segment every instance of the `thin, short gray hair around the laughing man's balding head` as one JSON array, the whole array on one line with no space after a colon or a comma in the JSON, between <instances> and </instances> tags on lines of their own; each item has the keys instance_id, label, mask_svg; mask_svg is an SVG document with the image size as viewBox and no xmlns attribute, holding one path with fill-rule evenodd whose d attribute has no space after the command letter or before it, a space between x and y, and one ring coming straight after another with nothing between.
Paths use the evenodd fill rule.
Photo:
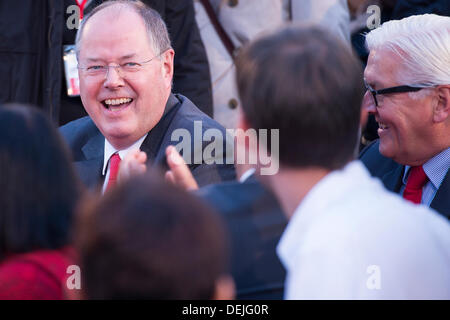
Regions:
<instances>
[{"instance_id":1,"label":"thin, short gray hair around the laughing man's balding head","mask_svg":"<svg viewBox=\"0 0 450 320\"><path fill-rule=\"evenodd\" d=\"M163 19L161 18L158 12L151 9L141 1L110 0L95 7L81 21L80 28L78 29L77 36L75 38L75 51L77 57L80 53L80 45L82 41L84 26L86 25L86 23L97 12L111 6L121 6L123 9L134 10L142 18L145 24L145 28L147 30L150 45L156 55L159 55L165 50L172 48L166 24L164 23Z\"/></svg>"}]
</instances>

